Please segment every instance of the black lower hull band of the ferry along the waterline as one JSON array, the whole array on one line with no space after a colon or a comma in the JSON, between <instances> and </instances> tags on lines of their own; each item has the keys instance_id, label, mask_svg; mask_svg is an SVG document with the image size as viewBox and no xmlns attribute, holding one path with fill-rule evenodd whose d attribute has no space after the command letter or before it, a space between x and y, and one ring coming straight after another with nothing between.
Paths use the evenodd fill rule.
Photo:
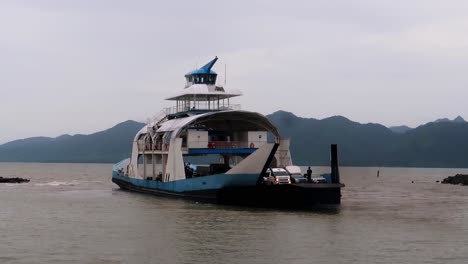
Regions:
<instances>
[{"instance_id":1,"label":"black lower hull band of the ferry along the waterline","mask_svg":"<svg viewBox=\"0 0 468 264\"><path fill-rule=\"evenodd\" d=\"M159 196L179 197L196 201L277 208L307 208L336 206L341 203L342 184L288 184L274 186L229 187L191 192L168 192L145 188L130 182L112 178L120 188Z\"/></svg>"}]
</instances>

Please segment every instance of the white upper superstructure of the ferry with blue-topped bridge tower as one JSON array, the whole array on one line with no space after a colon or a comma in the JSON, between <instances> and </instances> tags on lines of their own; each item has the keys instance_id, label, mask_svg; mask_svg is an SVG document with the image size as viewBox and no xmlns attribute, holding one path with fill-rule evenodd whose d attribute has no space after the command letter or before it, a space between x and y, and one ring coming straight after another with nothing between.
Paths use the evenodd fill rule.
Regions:
<instances>
[{"instance_id":1,"label":"white upper superstructure of the ferry with blue-topped bridge tower","mask_svg":"<svg viewBox=\"0 0 468 264\"><path fill-rule=\"evenodd\" d=\"M217 58L202 68L185 75L187 87L166 100L176 105L165 108L135 137L141 153L168 153L169 145L181 138L184 155L251 154L267 143L271 132L279 134L261 114L241 111L230 98L238 90L217 86L211 67Z\"/></svg>"}]
</instances>

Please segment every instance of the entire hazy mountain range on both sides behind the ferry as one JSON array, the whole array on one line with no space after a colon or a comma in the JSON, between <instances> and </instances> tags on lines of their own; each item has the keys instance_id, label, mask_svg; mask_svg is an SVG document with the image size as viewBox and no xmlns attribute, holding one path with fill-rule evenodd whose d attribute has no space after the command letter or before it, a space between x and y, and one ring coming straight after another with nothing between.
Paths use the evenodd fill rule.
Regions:
<instances>
[{"instance_id":1,"label":"entire hazy mountain range on both sides behind the ferry","mask_svg":"<svg viewBox=\"0 0 468 264\"><path fill-rule=\"evenodd\" d=\"M267 117L291 139L297 165L328 165L330 144L338 144L344 166L468 167L467 122L432 122L401 133L342 116L317 120L278 111ZM143 126L129 120L90 135L16 140L0 145L0 161L115 163L130 156Z\"/></svg>"}]
</instances>

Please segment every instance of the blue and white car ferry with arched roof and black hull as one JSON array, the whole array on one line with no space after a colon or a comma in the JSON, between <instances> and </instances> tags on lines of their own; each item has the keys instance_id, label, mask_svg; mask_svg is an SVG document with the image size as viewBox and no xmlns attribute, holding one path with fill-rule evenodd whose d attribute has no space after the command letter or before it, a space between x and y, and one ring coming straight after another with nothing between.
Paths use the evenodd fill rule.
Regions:
<instances>
[{"instance_id":1,"label":"blue and white car ferry with arched roof and black hull","mask_svg":"<svg viewBox=\"0 0 468 264\"><path fill-rule=\"evenodd\" d=\"M218 58L185 75L185 88L135 136L112 181L130 191L221 204L309 207L341 202L336 145L325 183L265 184L271 168L293 165L289 139L268 118L243 111L237 90L216 85ZM195 165L196 164L196 165Z\"/></svg>"}]
</instances>

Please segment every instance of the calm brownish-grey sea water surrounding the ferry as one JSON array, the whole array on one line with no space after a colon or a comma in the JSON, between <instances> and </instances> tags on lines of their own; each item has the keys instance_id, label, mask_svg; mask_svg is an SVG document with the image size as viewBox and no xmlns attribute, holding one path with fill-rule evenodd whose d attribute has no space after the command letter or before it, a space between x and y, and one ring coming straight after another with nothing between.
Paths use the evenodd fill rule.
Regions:
<instances>
[{"instance_id":1,"label":"calm brownish-grey sea water surrounding the ferry","mask_svg":"<svg viewBox=\"0 0 468 264\"><path fill-rule=\"evenodd\" d=\"M435 182L466 169L341 168L340 209L299 212L125 192L111 170L0 163L31 179L0 184L0 263L468 263L468 187Z\"/></svg>"}]
</instances>

